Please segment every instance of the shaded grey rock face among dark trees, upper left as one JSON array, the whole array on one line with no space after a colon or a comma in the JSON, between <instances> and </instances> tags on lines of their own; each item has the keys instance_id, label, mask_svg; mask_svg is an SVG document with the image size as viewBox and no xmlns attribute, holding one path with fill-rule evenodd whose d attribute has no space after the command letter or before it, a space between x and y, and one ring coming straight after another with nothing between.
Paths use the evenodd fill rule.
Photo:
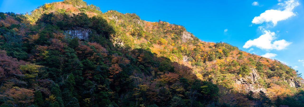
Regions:
<instances>
[{"instance_id":1,"label":"shaded grey rock face among dark trees, upper left","mask_svg":"<svg viewBox=\"0 0 304 107\"><path fill-rule=\"evenodd\" d=\"M81 40L88 40L90 33L92 33L91 29L82 29L82 28L74 28L64 31L66 37L71 37L71 38L78 37Z\"/></svg>"}]
</instances>

